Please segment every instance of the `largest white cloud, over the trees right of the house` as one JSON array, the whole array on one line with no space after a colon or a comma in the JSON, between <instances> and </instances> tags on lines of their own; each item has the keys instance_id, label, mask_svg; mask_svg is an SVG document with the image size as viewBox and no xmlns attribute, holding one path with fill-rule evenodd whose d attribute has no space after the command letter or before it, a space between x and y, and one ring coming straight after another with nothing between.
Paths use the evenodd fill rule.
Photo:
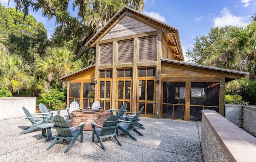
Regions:
<instances>
[{"instance_id":1,"label":"largest white cloud, over the trees right of the house","mask_svg":"<svg viewBox=\"0 0 256 162\"><path fill-rule=\"evenodd\" d=\"M227 25L232 25L232 26L245 26L246 24L249 23L248 20L250 16L246 17L241 17L241 16L234 16L230 13L228 8L223 8L220 11L220 16L216 17L214 19L214 27L224 27Z\"/></svg>"}]
</instances>

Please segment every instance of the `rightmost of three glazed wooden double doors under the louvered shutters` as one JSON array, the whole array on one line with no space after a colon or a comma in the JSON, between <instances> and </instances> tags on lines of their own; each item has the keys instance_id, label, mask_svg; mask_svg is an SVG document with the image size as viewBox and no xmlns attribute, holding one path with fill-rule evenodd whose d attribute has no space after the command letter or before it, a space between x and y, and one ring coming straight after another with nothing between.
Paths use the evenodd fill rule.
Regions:
<instances>
[{"instance_id":1,"label":"rightmost of three glazed wooden double doors under the louvered shutters","mask_svg":"<svg viewBox=\"0 0 256 162\"><path fill-rule=\"evenodd\" d=\"M154 117L156 101L156 81L155 79L140 78L137 81L137 112L142 106L144 109L141 113L144 117Z\"/></svg>"}]
</instances>

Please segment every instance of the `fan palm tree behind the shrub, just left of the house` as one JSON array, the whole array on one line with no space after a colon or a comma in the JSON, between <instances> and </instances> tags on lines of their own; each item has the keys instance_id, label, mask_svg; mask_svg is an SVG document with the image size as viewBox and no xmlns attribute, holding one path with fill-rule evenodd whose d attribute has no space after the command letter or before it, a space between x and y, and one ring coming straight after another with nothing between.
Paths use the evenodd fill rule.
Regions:
<instances>
[{"instance_id":1,"label":"fan palm tree behind the shrub, just left of the house","mask_svg":"<svg viewBox=\"0 0 256 162\"><path fill-rule=\"evenodd\" d=\"M47 47L42 58L36 59L34 73L46 80L46 91L54 81L82 68L82 61L66 47Z\"/></svg>"}]
</instances>

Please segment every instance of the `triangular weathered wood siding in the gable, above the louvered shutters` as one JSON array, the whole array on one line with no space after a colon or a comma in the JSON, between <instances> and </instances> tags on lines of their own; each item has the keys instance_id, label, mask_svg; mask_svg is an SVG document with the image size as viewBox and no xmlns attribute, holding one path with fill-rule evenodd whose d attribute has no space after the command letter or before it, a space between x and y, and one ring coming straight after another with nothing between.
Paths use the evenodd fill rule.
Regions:
<instances>
[{"instance_id":1,"label":"triangular weathered wood siding in the gable, above the louvered shutters","mask_svg":"<svg viewBox=\"0 0 256 162\"><path fill-rule=\"evenodd\" d=\"M100 40L108 40L112 38L131 36L134 34L146 33L157 31L157 29L152 28L130 16L124 16L105 36Z\"/></svg>"}]
</instances>

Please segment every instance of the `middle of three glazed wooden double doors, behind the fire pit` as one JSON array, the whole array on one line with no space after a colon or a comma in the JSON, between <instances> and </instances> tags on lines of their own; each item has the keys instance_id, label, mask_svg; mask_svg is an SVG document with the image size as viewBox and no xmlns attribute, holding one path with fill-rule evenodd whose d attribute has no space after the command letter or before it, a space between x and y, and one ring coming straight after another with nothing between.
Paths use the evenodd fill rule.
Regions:
<instances>
[{"instance_id":1,"label":"middle of three glazed wooden double doors, behind the fire pit","mask_svg":"<svg viewBox=\"0 0 256 162\"><path fill-rule=\"evenodd\" d=\"M127 104L127 112L131 112L132 106L132 79L117 79L116 81L116 107L120 109L124 103Z\"/></svg>"}]
</instances>

